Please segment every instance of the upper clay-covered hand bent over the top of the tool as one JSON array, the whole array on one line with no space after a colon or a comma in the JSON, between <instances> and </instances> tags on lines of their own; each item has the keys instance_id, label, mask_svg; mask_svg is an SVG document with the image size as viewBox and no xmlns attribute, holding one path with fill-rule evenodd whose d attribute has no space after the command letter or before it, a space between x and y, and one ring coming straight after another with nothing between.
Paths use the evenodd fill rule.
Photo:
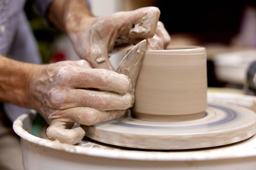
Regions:
<instances>
[{"instance_id":1,"label":"upper clay-covered hand bent over the top of the tool","mask_svg":"<svg viewBox=\"0 0 256 170\"><path fill-rule=\"evenodd\" d=\"M70 11L70 10L69 10ZM113 69L109 55L115 45L148 39L148 49L163 49L170 43L156 7L114 13L107 17L83 17L67 13L66 31L77 54L93 67ZM76 11L77 12L77 11Z\"/></svg>"}]
</instances>

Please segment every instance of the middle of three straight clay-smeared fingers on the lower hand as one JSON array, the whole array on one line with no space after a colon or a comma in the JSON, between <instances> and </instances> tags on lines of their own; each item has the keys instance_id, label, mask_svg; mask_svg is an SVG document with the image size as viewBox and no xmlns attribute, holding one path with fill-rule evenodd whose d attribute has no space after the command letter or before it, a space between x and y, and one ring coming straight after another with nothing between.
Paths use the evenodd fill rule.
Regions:
<instances>
[{"instance_id":1,"label":"middle of three straight clay-smeared fingers on the lower hand","mask_svg":"<svg viewBox=\"0 0 256 170\"><path fill-rule=\"evenodd\" d=\"M72 89L68 90L65 108L88 107L97 110L127 110L131 108L134 97L132 94L124 96L97 90Z\"/></svg>"}]
</instances>

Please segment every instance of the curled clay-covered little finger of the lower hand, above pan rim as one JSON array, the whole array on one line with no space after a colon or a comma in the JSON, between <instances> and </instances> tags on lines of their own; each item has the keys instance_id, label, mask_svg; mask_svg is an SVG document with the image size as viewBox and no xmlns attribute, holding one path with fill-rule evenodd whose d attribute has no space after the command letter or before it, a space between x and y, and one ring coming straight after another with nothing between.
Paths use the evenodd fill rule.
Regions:
<instances>
[{"instance_id":1,"label":"curled clay-covered little finger of the lower hand, above pan rim","mask_svg":"<svg viewBox=\"0 0 256 170\"><path fill-rule=\"evenodd\" d=\"M47 137L51 140L58 140L61 143L76 144L84 138L85 132L82 127L72 128L74 124L66 122L51 122L47 128Z\"/></svg>"}]
</instances>

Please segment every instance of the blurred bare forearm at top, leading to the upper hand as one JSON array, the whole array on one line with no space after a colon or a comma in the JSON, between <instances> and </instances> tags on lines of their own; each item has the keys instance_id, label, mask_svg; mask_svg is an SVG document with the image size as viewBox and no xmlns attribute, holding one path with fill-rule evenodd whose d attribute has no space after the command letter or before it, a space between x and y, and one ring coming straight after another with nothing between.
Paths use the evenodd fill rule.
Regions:
<instances>
[{"instance_id":1,"label":"blurred bare forearm at top, leading to the upper hand","mask_svg":"<svg viewBox=\"0 0 256 170\"><path fill-rule=\"evenodd\" d=\"M85 0L54 0L49 6L48 19L59 29L67 31L79 24L90 25L93 17Z\"/></svg>"}]
</instances>

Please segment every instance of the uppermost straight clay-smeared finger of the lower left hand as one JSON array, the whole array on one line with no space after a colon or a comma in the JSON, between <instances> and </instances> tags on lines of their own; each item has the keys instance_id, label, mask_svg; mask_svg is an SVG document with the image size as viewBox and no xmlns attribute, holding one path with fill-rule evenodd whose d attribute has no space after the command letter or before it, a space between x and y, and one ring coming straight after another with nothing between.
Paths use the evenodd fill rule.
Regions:
<instances>
[{"instance_id":1,"label":"uppermost straight clay-smeared finger of the lower left hand","mask_svg":"<svg viewBox=\"0 0 256 170\"><path fill-rule=\"evenodd\" d=\"M124 74L107 69L74 70L70 83L75 88L94 88L118 94L131 90L131 80Z\"/></svg>"}]
</instances>

